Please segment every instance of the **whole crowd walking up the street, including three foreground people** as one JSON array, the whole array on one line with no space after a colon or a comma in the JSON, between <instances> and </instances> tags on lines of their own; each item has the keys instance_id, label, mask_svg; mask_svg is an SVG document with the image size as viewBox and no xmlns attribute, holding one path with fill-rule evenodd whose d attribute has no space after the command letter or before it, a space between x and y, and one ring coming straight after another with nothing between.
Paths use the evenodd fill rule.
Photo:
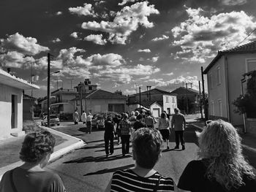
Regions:
<instances>
[{"instance_id":1,"label":"whole crowd walking up the street, including three foreground people","mask_svg":"<svg viewBox=\"0 0 256 192\"><path fill-rule=\"evenodd\" d=\"M84 123L90 121L89 116L91 114L82 115ZM114 153L115 136L118 142L121 137L123 156L129 154L129 142L132 140L135 167L114 172L105 191L255 191L254 168L244 158L241 137L230 123L214 120L208 123L202 132L196 132L198 159L187 164L177 185L173 178L160 174L154 166L161 158L164 141L167 143L166 148L169 148L170 128L175 131L174 148L178 149L181 143L182 150L185 150L186 120L184 115L175 109L171 120L163 112L158 128L154 128L154 123L156 120L151 117L150 112L132 112L130 117L124 113L122 116L107 118L104 134L106 157ZM88 130L90 132L90 128ZM48 131L27 134L20 150L20 159L24 163L4 173L0 192L66 191L61 177L44 169L53 153L54 145L55 139Z\"/></svg>"}]
</instances>

